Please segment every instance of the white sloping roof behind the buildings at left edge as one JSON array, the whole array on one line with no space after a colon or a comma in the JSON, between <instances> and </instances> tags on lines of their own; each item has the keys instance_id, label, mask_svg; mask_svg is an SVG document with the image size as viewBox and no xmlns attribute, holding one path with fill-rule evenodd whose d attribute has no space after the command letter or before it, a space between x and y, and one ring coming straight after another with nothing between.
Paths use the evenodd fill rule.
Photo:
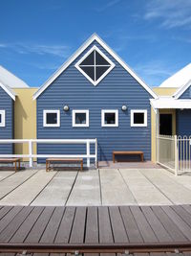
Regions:
<instances>
[{"instance_id":1,"label":"white sloping roof behind the buildings at left edge","mask_svg":"<svg viewBox=\"0 0 191 256\"><path fill-rule=\"evenodd\" d=\"M10 88L28 88L29 85L21 79L14 76L9 70L0 66L0 81Z\"/></svg>"}]
</instances>

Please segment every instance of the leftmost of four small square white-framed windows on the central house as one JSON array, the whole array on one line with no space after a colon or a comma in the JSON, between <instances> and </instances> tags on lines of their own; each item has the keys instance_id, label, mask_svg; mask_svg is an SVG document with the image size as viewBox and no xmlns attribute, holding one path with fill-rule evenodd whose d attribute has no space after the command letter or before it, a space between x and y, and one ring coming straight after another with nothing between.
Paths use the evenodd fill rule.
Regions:
<instances>
[{"instance_id":1,"label":"leftmost of four small square white-framed windows on the central house","mask_svg":"<svg viewBox=\"0 0 191 256\"><path fill-rule=\"evenodd\" d=\"M57 128L60 126L60 111L59 110L44 110L43 111L43 126L45 128Z\"/></svg>"}]
</instances>

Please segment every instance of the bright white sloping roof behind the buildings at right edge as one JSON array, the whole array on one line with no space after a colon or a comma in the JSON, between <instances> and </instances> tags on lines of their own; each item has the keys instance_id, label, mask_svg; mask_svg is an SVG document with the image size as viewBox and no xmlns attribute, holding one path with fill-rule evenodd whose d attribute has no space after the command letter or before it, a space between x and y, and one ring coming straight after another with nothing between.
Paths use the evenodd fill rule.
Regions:
<instances>
[{"instance_id":1,"label":"bright white sloping roof behind the buildings at right edge","mask_svg":"<svg viewBox=\"0 0 191 256\"><path fill-rule=\"evenodd\" d=\"M177 73L163 81L159 87L176 87L180 88L184 86L187 81L191 80L191 63L181 68Z\"/></svg>"}]
</instances>

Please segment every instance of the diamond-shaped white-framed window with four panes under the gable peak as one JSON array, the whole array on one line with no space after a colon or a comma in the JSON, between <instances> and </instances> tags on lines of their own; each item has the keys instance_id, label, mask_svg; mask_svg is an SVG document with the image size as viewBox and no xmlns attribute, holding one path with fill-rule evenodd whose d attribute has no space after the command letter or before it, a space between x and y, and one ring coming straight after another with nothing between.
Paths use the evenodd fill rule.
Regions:
<instances>
[{"instance_id":1,"label":"diamond-shaped white-framed window with four panes under the gable peak","mask_svg":"<svg viewBox=\"0 0 191 256\"><path fill-rule=\"evenodd\" d=\"M115 64L94 46L75 67L94 85L101 81Z\"/></svg>"}]
</instances>

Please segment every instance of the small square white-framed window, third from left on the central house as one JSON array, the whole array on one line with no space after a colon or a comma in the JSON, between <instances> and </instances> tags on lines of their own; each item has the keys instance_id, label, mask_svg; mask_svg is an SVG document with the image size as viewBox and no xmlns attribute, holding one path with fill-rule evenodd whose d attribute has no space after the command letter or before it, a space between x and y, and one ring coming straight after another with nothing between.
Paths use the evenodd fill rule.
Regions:
<instances>
[{"instance_id":1,"label":"small square white-framed window, third from left on the central house","mask_svg":"<svg viewBox=\"0 0 191 256\"><path fill-rule=\"evenodd\" d=\"M105 128L118 127L118 110L111 110L111 109L101 110L101 127L105 127Z\"/></svg>"}]
</instances>

